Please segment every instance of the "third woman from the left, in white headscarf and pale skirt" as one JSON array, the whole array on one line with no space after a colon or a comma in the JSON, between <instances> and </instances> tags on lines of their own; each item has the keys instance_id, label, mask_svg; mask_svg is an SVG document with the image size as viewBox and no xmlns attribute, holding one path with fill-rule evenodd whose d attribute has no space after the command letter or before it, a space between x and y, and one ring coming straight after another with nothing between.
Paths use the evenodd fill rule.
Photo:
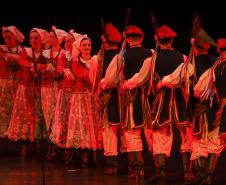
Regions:
<instances>
[{"instance_id":1,"label":"third woman from the left, in white headscarf and pale skirt","mask_svg":"<svg viewBox=\"0 0 226 185\"><path fill-rule=\"evenodd\" d=\"M62 49L61 44L68 35L67 32L52 27L49 33L51 49L43 51L46 60L46 68L41 72L41 97L47 131L51 134L51 145L48 158L56 155L56 133L59 121L62 121L61 106L65 103L61 97L68 86L64 70L69 67L70 54ZM59 96L58 96L59 95ZM57 101L58 100L58 101ZM61 101L62 100L62 101ZM56 104L58 102L58 104ZM55 108L57 106L57 108ZM53 124L54 123L54 124ZM65 133L63 133L65 134Z\"/></svg>"}]
</instances>

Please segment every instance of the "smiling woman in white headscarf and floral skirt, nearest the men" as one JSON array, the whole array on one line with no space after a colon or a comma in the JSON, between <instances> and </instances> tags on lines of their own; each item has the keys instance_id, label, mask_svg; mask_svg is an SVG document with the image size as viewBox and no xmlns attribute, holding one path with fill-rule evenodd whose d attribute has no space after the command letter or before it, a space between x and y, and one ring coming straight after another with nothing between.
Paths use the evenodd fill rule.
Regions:
<instances>
[{"instance_id":1,"label":"smiling woman in white headscarf and floral skirt, nearest the men","mask_svg":"<svg viewBox=\"0 0 226 185\"><path fill-rule=\"evenodd\" d=\"M88 162L84 149L97 149L97 110L91 94L96 65L97 57L91 56L91 40L82 35L72 49L74 84L70 90L66 147L83 150L84 166Z\"/></svg>"}]
</instances>

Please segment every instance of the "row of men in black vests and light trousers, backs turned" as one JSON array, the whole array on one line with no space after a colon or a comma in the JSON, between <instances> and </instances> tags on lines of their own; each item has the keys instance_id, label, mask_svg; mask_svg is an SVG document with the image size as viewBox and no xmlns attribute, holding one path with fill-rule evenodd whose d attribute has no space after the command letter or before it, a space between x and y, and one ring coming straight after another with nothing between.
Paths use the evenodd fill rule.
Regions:
<instances>
[{"instance_id":1,"label":"row of men in black vests and light trousers, backs turned","mask_svg":"<svg viewBox=\"0 0 226 185\"><path fill-rule=\"evenodd\" d=\"M219 39L216 44L200 27L191 39L191 52L187 57L173 48L177 34L167 25L156 30L155 50L142 47L143 36L139 27L128 26L124 41L129 49L123 51L122 45L115 56L106 50L104 66L108 65L109 58L113 59L104 67L100 85L101 103L105 107L102 112L104 155L109 164L117 155L116 125L120 123L123 128L121 151L128 152L130 176L142 176L140 131L144 129L155 165L149 181L165 180L166 159L171 154L175 126L181 136L185 183L211 184L225 147L226 40ZM218 48L218 58L208 54L210 46ZM195 175L193 166L197 171ZM109 173L111 170L109 165Z\"/></svg>"}]
</instances>

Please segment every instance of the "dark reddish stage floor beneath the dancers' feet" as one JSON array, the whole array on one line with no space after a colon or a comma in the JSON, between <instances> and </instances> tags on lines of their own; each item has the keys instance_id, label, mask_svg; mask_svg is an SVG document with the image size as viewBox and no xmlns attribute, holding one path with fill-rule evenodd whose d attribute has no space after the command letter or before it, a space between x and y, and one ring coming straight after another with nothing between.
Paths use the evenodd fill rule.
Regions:
<instances>
[{"instance_id":1,"label":"dark reddish stage floor beneath the dancers' feet","mask_svg":"<svg viewBox=\"0 0 226 185\"><path fill-rule=\"evenodd\" d=\"M11 142L0 142L0 185L143 185L150 184L147 179L153 169L153 161L144 152L145 178L128 179L126 174L103 175L102 167L78 168L74 165L42 160L32 153L21 158L19 146ZM167 161L168 178L164 185L183 185L181 159L175 153ZM44 169L44 170L43 170ZM45 172L45 173L43 173ZM45 183L43 183L43 181ZM226 184L226 152L219 158L216 169L216 185Z\"/></svg>"}]
</instances>

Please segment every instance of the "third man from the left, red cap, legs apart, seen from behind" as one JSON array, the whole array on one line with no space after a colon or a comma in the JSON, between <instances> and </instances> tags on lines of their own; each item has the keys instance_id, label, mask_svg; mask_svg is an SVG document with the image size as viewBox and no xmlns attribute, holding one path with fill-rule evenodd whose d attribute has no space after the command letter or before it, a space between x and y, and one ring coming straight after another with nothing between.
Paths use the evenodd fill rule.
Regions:
<instances>
[{"instance_id":1,"label":"third man from the left, red cap, legs apart, seen from behind","mask_svg":"<svg viewBox=\"0 0 226 185\"><path fill-rule=\"evenodd\" d=\"M151 88L156 92L152 107L153 157L156 169L149 181L165 178L166 158L171 153L174 123L181 135L184 179L189 181L193 178L190 164L192 127L186 98L180 87L180 71L187 57L172 47L177 34L171 28L163 25L156 31L159 49L151 64L151 71L154 73L150 80Z\"/></svg>"}]
</instances>

